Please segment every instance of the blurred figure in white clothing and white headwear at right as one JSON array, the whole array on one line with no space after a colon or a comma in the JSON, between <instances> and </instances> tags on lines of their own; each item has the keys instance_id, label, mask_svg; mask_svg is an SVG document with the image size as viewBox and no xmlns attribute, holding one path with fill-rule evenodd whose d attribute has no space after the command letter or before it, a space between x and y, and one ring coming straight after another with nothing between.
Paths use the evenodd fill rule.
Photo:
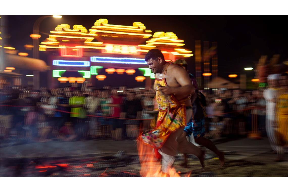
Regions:
<instances>
[{"instance_id":1,"label":"blurred figure in white clothing and white headwear at right","mask_svg":"<svg viewBox=\"0 0 288 192\"><path fill-rule=\"evenodd\" d=\"M279 77L280 74L268 75L268 89L264 90L263 95L266 100L266 132L273 151L277 151L275 131L275 115L276 115L276 98L279 92Z\"/></svg>"}]
</instances>

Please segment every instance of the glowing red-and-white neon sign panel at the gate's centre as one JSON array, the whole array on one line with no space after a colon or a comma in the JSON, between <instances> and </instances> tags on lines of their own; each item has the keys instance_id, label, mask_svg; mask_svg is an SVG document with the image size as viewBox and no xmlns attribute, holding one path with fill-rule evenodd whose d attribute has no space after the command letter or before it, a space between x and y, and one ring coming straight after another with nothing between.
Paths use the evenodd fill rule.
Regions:
<instances>
[{"instance_id":1,"label":"glowing red-and-white neon sign panel at the gate's centre","mask_svg":"<svg viewBox=\"0 0 288 192\"><path fill-rule=\"evenodd\" d=\"M105 47L103 47L103 49L101 50L102 53L140 55L140 52L137 51L140 49L140 47L137 45L120 45L120 44L108 44L108 43L103 45Z\"/></svg>"}]
</instances>

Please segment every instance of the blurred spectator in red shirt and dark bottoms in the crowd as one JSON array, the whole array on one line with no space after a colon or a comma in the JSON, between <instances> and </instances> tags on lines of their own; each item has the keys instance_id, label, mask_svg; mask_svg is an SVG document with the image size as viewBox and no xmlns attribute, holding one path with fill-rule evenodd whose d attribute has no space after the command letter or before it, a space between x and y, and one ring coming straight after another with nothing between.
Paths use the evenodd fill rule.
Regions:
<instances>
[{"instance_id":1,"label":"blurred spectator in red shirt and dark bottoms in the crowd","mask_svg":"<svg viewBox=\"0 0 288 192\"><path fill-rule=\"evenodd\" d=\"M120 96L117 92L117 89L111 90L111 118L112 126L111 126L111 135L114 140L122 139L122 120L118 119L121 113L121 104L122 104L122 96Z\"/></svg>"}]
</instances>

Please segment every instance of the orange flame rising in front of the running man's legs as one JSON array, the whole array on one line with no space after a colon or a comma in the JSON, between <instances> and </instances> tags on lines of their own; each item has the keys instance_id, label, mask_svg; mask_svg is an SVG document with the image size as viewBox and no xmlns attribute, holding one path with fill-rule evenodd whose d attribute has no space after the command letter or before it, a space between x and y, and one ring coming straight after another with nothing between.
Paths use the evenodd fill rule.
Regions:
<instances>
[{"instance_id":1,"label":"orange flame rising in front of the running man's legs","mask_svg":"<svg viewBox=\"0 0 288 192\"><path fill-rule=\"evenodd\" d=\"M145 145L138 138L138 155L141 164L140 175L143 177L180 177L175 168L170 168L168 174L162 172L161 161L159 161L150 146Z\"/></svg>"}]
</instances>

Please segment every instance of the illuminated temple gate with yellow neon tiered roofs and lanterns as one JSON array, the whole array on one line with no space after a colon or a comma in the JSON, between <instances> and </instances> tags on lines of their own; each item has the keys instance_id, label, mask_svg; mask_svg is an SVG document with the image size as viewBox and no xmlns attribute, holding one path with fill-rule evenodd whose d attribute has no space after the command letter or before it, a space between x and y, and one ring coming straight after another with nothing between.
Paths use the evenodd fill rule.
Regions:
<instances>
[{"instance_id":1,"label":"illuminated temple gate with yellow neon tiered roofs and lanterns","mask_svg":"<svg viewBox=\"0 0 288 192\"><path fill-rule=\"evenodd\" d=\"M97 87L97 79L106 81L107 85L113 81L123 81L122 84L127 85L131 81L125 82L123 74L129 75L130 79L133 77L135 82L143 81L145 86L151 86L154 74L144 60L145 54L157 48L167 61L193 56L192 51L183 48L183 42L172 32L152 35L141 22L124 26L99 19L89 30L82 25L74 25L73 29L68 24L58 25L50 31L49 38L41 42L39 51L49 52L50 88L58 87L59 81L90 81ZM67 72L71 72L70 75L77 73L78 77L67 77ZM113 73L113 81L109 83L109 75Z\"/></svg>"}]
</instances>

